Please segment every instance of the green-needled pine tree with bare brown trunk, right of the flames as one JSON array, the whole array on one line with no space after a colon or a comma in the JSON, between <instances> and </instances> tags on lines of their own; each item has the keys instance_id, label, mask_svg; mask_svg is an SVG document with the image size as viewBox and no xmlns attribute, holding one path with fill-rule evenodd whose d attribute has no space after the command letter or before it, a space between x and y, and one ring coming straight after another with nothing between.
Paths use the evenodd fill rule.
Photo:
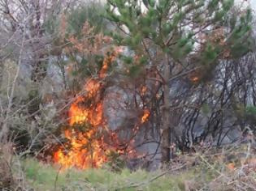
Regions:
<instances>
[{"instance_id":1,"label":"green-needled pine tree with bare brown trunk, right of the flames","mask_svg":"<svg viewBox=\"0 0 256 191\"><path fill-rule=\"evenodd\" d=\"M154 66L162 74L163 163L171 158L173 142L170 79L192 72L207 76L222 59L241 57L249 51L250 10L239 19L231 14L233 6L234 0L107 1L106 18L119 28L111 32L116 44L139 55L139 67ZM154 59L156 55L162 58L161 62ZM188 61L189 64L185 64ZM124 62L134 68L131 59L124 59Z\"/></svg>"}]
</instances>

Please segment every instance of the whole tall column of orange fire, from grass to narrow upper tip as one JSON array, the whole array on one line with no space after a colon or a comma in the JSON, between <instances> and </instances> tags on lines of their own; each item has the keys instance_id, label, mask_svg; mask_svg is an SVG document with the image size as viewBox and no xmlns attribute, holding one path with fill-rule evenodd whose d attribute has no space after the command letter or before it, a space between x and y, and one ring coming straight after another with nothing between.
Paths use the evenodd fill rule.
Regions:
<instances>
[{"instance_id":1,"label":"whole tall column of orange fire, from grass to narrow upper tip","mask_svg":"<svg viewBox=\"0 0 256 191\"><path fill-rule=\"evenodd\" d=\"M84 87L85 96L78 96L69 108L69 125L64 131L67 142L54 152L54 162L62 168L98 168L107 161L107 153L115 150L106 145L102 132L106 130L103 102L100 97L106 70L115 55L104 59L98 79L90 79Z\"/></svg>"}]
</instances>

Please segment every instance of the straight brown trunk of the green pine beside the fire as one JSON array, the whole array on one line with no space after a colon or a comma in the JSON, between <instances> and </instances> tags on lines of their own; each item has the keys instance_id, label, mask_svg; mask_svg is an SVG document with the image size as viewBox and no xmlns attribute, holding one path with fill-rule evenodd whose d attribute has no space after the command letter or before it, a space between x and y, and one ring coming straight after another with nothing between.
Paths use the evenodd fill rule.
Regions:
<instances>
[{"instance_id":1,"label":"straight brown trunk of the green pine beside the fire","mask_svg":"<svg viewBox=\"0 0 256 191\"><path fill-rule=\"evenodd\" d=\"M170 86L169 86L169 79L171 76L171 68L170 63L168 61L168 58L166 57L166 62L164 65L164 71L163 71L163 126L162 126L162 140L161 140L161 154L162 154L162 163L168 163L170 161L170 142L171 142L171 121L170 121Z\"/></svg>"}]
</instances>

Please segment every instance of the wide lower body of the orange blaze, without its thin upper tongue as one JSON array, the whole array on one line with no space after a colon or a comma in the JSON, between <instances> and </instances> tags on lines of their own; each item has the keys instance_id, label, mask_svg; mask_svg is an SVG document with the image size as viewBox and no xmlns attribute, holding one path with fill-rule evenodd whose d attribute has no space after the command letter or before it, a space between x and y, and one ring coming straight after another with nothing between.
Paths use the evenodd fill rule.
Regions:
<instances>
[{"instance_id":1,"label":"wide lower body of the orange blaze, without its thin upper tongue","mask_svg":"<svg viewBox=\"0 0 256 191\"><path fill-rule=\"evenodd\" d=\"M85 131L66 129L65 138L70 142L71 149L68 151L59 148L54 153L54 162L60 163L63 168L98 168L106 162L105 146L102 138L97 138L100 125L104 126L102 117L102 102L87 107L82 105L86 100L93 98L99 91L99 84L96 81L89 81L85 89L88 91L86 97L78 97L69 109L69 125L81 125Z\"/></svg>"}]
</instances>

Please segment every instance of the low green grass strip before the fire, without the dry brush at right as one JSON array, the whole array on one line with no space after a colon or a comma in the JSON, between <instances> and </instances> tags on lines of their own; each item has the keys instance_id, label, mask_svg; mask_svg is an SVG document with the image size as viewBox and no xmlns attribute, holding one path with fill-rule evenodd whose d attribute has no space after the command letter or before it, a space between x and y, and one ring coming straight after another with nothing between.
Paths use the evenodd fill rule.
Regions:
<instances>
[{"instance_id":1,"label":"low green grass strip before the fire, without the dry brush at right","mask_svg":"<svg viewBox=\"0 0 256 191\"><path fill-rule=\"evenodd\" d=\"M111 172L108 169L87 169L84 171L69 169L59 172L48 164L39 163L34 159L23 162L24 174L29 188L35 190L184 190L184 182L193 178L192 172L176 175L166 174L156 180L154 177L162 174L137 170L130 172Z\"/></svg>"}]
</instances>

